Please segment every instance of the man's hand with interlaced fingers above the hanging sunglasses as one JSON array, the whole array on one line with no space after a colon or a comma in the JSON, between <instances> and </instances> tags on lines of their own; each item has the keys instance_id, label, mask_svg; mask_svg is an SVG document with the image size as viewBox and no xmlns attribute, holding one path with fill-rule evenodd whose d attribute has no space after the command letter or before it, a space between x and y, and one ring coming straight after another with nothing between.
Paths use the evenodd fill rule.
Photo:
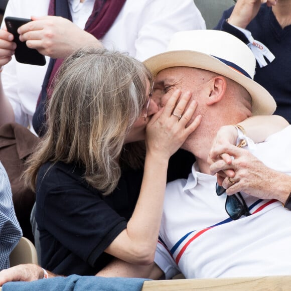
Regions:
<instances>
[{"instance_id":1,"label":"man's hand with interlaced fingers above the hanging sunglasses","mask_svg":"<svg viewBox=\"0 0 291 291\"><path fill-rule=\"evenodd\" d=\"M234 171L234 175L231 176L234 183L229 181L230 176L226 178L220 176L218 181L227 189L227 195L242 191L261 199L277 199L282 203L286 201L291 189L290 176L268 168L250 152L234 145L221 147L220 153L234 158L231 163L221 159L210 166L212 175L229 169Z\"/></svg>"}]
</instances>

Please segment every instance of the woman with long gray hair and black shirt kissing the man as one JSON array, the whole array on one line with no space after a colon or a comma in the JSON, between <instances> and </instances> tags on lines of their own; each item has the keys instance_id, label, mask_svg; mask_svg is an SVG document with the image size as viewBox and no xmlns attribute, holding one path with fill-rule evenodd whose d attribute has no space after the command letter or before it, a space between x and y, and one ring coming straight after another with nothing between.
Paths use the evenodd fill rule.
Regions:
<instances>
[{"instance_id":1,"label":"woman with long gray hair and black shirt kissing the man","mask_svg":"<svg viewBox=\"0 0 291 291\"><path fill-rule=\"evenodd\" d=\"M180 90L159 111L152 83L143 64L105 49L62 64L25 173L48 270L90 275L112 257L153 262L169 158L201 116L189 122L197 104Z\"/></svg>"}]
</instances>

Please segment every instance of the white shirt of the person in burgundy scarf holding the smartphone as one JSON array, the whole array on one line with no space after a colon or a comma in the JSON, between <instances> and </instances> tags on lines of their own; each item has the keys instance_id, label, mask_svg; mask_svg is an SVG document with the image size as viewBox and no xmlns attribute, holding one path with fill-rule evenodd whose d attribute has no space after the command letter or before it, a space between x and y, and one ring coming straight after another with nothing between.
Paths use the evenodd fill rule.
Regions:
<instances>
[{"instance_id":1,"label":"white shirt of the person in burgundy scarf holding the smartphone","mask_svg":"<svg viewBox=\"0 0 291 291\"><path fill-rule=\"evenodd\" d=\"M76 0L69 1L73 21L83 29L92 10L92 0L83 5ZM50 0L9 0L4 17L45 16L49 3ZM193 0L127 0L102 42L107 49L128 52L144 61L164 52L175 32L205 28ZM49 58L46 59L48 65ZM47 65L21 64L13 57L4 67L4 92L13 106L16 122L24 126L32 128L32 116Z\"/></svg>"}]
</instances>

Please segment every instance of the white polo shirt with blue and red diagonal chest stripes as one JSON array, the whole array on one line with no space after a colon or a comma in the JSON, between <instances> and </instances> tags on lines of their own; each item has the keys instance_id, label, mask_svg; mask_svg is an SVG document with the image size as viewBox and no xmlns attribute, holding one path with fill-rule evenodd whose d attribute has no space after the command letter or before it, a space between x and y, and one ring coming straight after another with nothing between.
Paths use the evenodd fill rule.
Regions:
<instances>
[{"instance_id":1,"label":"white polo shirt with blue and red diagonal chest stripes","mask_svg":"<svg viewBox=\"0 0 291 291\"><path fill-rule=\"evenodd\" d=\"M291 175L291 126L250 150L264 164ZM195 165L188 180L166 189L155 262L166 277L186 278L291 274L291 211L276 200L242 193L250 216L231 220L216 177Z\"/></svg>"}]
</instances>

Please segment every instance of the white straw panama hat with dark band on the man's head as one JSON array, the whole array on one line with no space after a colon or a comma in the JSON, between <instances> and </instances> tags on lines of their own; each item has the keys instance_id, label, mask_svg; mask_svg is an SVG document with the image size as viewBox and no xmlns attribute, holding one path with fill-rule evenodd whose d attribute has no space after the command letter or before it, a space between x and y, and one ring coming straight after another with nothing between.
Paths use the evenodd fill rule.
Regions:
<instances>
[{"instance_id":1,"label":"white straw panama hat with dark band on the man's head","mask_svg":"<svg viewBox=\"0 0 291 291\"><path fill-rule=\"evenodd\" d=\"M270 93L253 81L255 58L233 35L217 30L175 33L167 52L145 60L154 77L171 67L193 67L223 75L242 85L252 98L253 115L271 115L276 103Z\"/></svg>"}]
</instances>

